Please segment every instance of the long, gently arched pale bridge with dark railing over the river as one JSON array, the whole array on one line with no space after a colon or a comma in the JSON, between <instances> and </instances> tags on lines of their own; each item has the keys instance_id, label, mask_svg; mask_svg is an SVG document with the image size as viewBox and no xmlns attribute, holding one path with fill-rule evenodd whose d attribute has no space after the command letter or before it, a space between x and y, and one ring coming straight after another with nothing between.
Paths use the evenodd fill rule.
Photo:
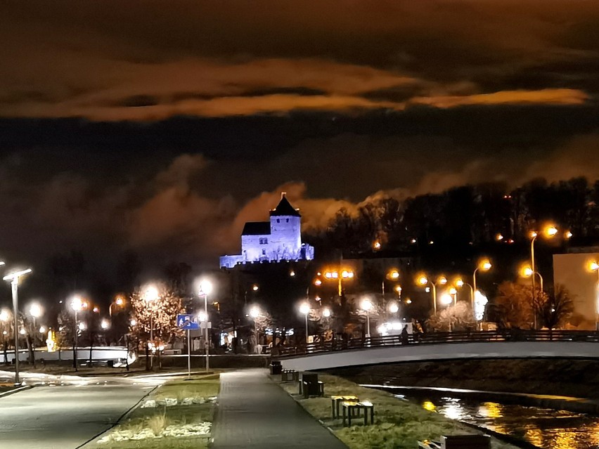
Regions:
<instances>
[{"instance_id":1,"label":"long, gently arched pale bridge with dark railing over the river","mask_svg":"<svg viewBox=\"0 0 599 449\"><path fill-rule=\"evenodd\" d=\"M599 358L599 332L443 332L420 338L373 337L285 348L285 369L327 370L428 360L469 358Z\"/></svg>"}]
</instances>

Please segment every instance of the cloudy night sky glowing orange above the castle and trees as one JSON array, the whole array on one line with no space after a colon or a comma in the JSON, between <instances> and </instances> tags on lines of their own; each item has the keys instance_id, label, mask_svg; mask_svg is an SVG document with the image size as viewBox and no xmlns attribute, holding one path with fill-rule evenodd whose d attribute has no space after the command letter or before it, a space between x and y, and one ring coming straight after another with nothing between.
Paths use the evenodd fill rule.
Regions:
<instances>
[{"instance_id":1,"label":"cloudy night sky glowing orange above the castle and trees","mask_svg":"<svg viewBox=\"0 0 599 449\"><path fill-rule=\"evenodd\" d=\"M217 266L281 190L599 178L599 2L4 1L0 256Z\"/></svg>"}]
</instances>

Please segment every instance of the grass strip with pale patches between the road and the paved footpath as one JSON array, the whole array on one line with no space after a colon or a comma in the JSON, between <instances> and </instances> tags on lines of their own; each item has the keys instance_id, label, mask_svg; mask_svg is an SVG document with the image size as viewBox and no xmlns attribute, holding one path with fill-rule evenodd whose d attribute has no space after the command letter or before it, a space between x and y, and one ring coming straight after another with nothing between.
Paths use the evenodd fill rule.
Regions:
<instances>
[{"instance_id":1,"label":"grass strip with pale patches between the road and the paved footpath","mask_svg":"<svg viewBox=\"0 0 599 449\"><path fill-rule=\"evenodd\" d=\"M118 424L103 438L96 439L85 446L86 449L196 449L207 448L210 435L181 436L181 429L194 427L202 422L211 423L214 417L214 403L203 402L207 398L218 396L219 375L195 376L191 380L176 379L160 386L142 403L155 401L155 408L138 407L124 422ZM186 400L186 404L182 404ZM192 401L193 400L193 401ZM176 401L176 405L166 406L165 401ZM174 429L179 436L165 436L165 432ZM122 436L141 436L148 438L125 439Z\"/></svg>"}]
</instances>

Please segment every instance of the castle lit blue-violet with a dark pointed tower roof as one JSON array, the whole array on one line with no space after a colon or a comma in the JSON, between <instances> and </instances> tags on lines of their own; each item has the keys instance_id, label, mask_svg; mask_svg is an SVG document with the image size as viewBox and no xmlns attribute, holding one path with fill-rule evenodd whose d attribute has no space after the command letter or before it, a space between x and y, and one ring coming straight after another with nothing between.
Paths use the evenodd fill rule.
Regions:
<instances>
[{"instance_id":1,"label":"castle lit blue-violet with a dark pointed tower roof","mask_svg":"<svg viewBox=\"0 0 599 449\"><path fill-rule=\"evenodd\" d=\"M302 243L299 209L293 209L281 194L281 201L271 210L270 221L245 223L241 233L241 254L221 256L221 268L238 263L279 262L314 259L314 247Z\"/></svg>"}]
</instances>

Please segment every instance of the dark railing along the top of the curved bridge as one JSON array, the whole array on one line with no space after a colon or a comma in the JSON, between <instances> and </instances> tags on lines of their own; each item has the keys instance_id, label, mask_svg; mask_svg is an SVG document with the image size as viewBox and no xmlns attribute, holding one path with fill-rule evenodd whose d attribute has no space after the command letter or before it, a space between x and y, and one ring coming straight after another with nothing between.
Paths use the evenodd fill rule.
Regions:
<instances>
[{"instance_id":1,"label":"dark railing along the top of the curved bridge","mask_svg":"<svg viewBox=\"0 0 599 449\"><path fill-rule=\"evenodd\" d=\"M408 334L385 337L364 337L354 339L333 339L316 343L282 346L279 356L302 356L307 354L347 351L352 349L371 349L382 346L412 346L419 344L452 344L501 341L591 341L599 342L599 332L577 330L495 330L465 332L428 332L426 334Z\"/></svg>"}]
</instances>

